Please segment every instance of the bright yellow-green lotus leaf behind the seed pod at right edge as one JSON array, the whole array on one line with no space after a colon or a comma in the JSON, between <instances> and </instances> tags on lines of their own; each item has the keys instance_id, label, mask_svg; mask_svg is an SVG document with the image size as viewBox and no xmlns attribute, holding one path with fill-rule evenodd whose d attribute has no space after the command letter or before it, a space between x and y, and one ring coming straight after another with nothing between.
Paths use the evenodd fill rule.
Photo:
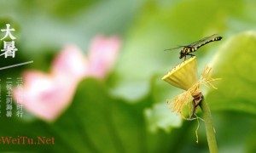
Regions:
<instances>
[{"instance_id":1,"label":"bright yellow-green lotus leaf behind the seed pod at right edge","mask_svg":"<svg viewBox=\"0 0 256 153\"><path fill-rule=\"evenodd\" d=\"M212 59L218 90L207 95L214 110L244 111L256 115L256 32L230 37Z\"/></svg>"}]
</instances>

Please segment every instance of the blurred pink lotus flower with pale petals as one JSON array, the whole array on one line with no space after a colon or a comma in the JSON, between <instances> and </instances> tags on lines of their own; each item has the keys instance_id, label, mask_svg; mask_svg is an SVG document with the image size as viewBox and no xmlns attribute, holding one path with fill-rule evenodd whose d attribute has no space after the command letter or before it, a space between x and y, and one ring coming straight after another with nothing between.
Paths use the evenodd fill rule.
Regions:
<instances>
[{"instance_id":1,"label":"blurred pink lotus flower with pale petals","mask_svg":"<svg viewBox=\"0 0 256 153\"><path fill-rule=\"evenodd\" d=\"M45 121L54 121L72 102L78 83L84 77L104 79L119 53L118 37L96 37L91 42L89 59L75 46L67 46L54 59L49 74L26 71L23 75L22 105ZM19 99L20 88L14 89Z\"/></svg>"}]
</instances>

